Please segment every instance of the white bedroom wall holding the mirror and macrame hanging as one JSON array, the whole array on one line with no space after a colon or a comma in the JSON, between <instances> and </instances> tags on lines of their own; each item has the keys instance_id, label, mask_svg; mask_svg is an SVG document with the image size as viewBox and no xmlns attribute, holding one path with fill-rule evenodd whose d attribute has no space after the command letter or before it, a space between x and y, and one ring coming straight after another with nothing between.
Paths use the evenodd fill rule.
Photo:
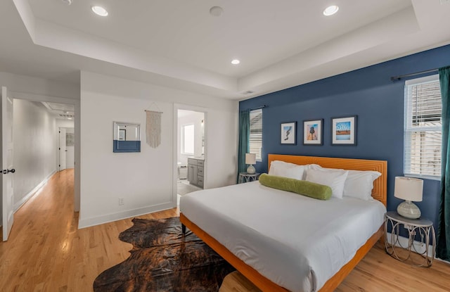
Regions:
<instances>
[{"instance_id":1,"label":"white bedroom wall holding the mirror and macrame hanging","mask_svg":"<svg viewBox=\"0 0 450 292\"><path fill-rule=\"evenodd\" d=\"M206 112L207 186L235 182L237 101L91 72L81 73L80 96L79 227L176 207L175 103ZM146 144L146 109L163 112L158 148ZM140 153L113 153L113 121L141 124Z\"/></svg>"}]
</instances>

